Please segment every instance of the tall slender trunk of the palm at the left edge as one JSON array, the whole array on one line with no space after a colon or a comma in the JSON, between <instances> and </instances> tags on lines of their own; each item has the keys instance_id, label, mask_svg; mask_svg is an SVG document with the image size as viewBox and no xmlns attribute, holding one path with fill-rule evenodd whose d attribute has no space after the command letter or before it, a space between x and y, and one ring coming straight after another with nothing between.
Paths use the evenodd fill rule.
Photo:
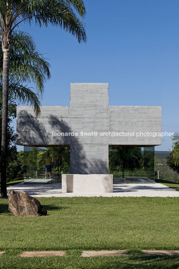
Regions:
<instances>
[{"instance_id":1,"label":"tall slender trunk of the palm at the left edge","mask_svg":"<svg viewBox=\"0 0 179 269\"><path fill-rule=\"evenodd\" d=\"M3 52L3 115L2 115L2 160L1 160L1 198L7 198L7 126L9 95L9 50Z\"/></svg>"}]
</instances>

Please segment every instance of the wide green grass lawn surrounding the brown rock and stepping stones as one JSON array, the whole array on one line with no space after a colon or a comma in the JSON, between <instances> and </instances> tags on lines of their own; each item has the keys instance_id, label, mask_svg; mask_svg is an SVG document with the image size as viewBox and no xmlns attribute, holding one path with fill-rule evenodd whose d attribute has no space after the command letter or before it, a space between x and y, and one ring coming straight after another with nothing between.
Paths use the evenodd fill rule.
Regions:
<instances>
[{"instance_id":1,"label":"wide green grass lawn surrounding the brown rock and stepping stones","mask_svg":"<svg viewBox=\"0 0 179 269\"><path fill-rule=\"evenodd\" d=\"M38 198L47 216L14 217L0 199L0 268L179 268L177 256L141 249L179 249L179 198ZM81 250L127 249L127 257L80 257ZM23 258L24 250L65 250L65 257Z\"/></svg>"}]
</instances>

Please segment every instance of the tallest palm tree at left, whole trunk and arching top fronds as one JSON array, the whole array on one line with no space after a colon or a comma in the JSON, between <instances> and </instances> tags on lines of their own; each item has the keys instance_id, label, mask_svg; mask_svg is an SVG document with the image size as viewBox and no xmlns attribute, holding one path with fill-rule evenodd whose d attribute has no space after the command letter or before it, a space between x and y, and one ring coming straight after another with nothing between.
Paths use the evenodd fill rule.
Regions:
<instances>
[{"instance_id":1,"label":"tallest palm tree at left, whole trunk and arching top fronds","mask_svg":"<svg viewBox=\"0 0 179 269\"><path fill-rule=\"evenodd\" d=\"M86 42L84 24L74 10L77 15L84 17L86 11L82 0L0 0L0 38L3 51L2 186L6 186L9 62L13 31L24 21L34 21L39 26L59 26L75 36L79 43ZM1 187L1 197L7 197L4 187Z\"/></svg>"}]
</instances>

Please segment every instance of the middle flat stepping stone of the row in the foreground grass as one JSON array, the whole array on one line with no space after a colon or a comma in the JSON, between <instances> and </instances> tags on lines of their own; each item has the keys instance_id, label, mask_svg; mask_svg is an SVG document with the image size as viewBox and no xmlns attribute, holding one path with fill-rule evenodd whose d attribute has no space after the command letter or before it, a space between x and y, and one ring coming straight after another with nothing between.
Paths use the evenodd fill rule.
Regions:
<instances>
[{"instance_id":1,"label":"middle flat stepping stone of the row in the foreground grass","mask_svg":"<svg viewBox=\"0 0 179 269\"><path fill-rule=\"evenodd\" d=\"M126 256L126 250L88 250L82 251L82 257L96 257L96 256Z\"/></svg>"}]
</instances>

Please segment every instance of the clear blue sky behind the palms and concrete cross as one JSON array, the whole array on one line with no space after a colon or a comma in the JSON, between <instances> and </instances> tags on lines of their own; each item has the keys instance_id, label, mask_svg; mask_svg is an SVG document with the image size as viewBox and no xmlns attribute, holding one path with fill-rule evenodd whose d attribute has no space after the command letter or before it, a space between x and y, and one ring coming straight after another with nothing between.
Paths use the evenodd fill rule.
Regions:
<instances>
[{"instance_id":1,"label":"clear blue sky behind the palms and concrete cross","mask_svg":"<svg viewBox=\"0 0 179 269\"><path fill-rule=\"evenodd\" d=\"M179 1L84 0L87 43L60 28L21 24L46 54L42 105L70 105L71 82L108 82L109 105L160 105L162 130L178 126ZM171 149L171 139L155 150Z\"/></svg>"}]
</instances>

